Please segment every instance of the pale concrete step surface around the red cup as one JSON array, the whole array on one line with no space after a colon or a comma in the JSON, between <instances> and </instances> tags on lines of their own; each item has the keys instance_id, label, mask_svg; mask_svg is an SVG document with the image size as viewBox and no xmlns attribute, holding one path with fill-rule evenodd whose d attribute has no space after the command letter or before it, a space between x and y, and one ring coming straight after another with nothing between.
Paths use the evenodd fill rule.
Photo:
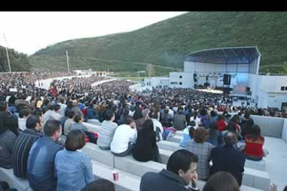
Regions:
<instances>
[{"instance_id":1,"label":"pale concrete step surface around the red cup","mask_svg":"<svg viewBox=\"0 0 287 191\"><path fill-rule=\"evenodd\" d=\"M139 191L139 184L141 183L141 177L134 176L122 170L114 169L97 161L92 161L93 173L96 179L107 179L112 181L116 185L118 191ZM119 181L114 181L112 171L119 171Z\"/></svg>"}]
</instances>

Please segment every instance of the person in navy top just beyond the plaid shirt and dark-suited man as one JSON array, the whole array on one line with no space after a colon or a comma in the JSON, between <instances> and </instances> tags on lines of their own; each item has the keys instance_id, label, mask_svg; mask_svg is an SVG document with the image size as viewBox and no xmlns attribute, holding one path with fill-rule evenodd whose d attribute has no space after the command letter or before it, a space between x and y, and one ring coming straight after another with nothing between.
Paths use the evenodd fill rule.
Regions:
<instances>
[{"instance_id":1,"label":"person in navy top just beyond the plaid shirt and dark-suited man","mask_svg":"<svg viewBox=\"0 0 287 191\"><path fill-rule=\"evenodd\" d=\"M217 147L218 145L223 145L223 134L218 131L217 128L217 123L212 122L209 125L209 129L207 129L207 132L209 134L209 137L207 138L207 143L214 145L214 147Z\"/></svg>"}]
</instances>

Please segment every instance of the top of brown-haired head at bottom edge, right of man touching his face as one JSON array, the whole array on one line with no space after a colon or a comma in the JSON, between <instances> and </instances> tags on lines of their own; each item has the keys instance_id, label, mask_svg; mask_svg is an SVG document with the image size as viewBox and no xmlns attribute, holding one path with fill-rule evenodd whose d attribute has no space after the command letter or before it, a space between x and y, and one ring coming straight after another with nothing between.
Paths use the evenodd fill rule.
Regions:
<instances>
[{"instance_id":1,"label":"top of brown-haired head at bottom edge, right of man touching his face","mask_svg":"<svg viewBox=\"0 0 287 191\"><path fill-rule=\"evenodd\" d=\"M229 172L216 172L205 183L203 191L239 191L239 185Z\"/></svg>"}]
</instances>

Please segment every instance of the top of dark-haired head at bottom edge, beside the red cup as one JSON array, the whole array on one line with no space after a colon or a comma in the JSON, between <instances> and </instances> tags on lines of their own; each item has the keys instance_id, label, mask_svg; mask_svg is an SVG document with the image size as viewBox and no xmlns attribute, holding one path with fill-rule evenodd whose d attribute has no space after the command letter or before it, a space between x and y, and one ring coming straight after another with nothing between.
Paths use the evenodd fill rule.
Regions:
<instances>
[{"instance_id":1,"label":"top of dark-haired head at bottom edge, beside the red cup","mask_svg":"<svg viewBox=\"0 0 287 191\"><path fill-rule=\"evenodd\" d=\"M114 183L106 179L98 179L89 183L81 191L116 191Z\"/></svg>"}]
</instances>

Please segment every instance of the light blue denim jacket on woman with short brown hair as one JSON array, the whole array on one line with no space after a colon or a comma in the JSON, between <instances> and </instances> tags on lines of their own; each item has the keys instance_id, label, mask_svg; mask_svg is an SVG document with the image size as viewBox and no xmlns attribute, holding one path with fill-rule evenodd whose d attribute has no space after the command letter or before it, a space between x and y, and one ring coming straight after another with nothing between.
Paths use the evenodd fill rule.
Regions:
<instances>
[{"instance_id":1,"label":"light blue denim jacket on woman with short brown hair","mask_svg":"<svg viewBox=\"0 0 287 191\"><path fill-rule=\"evenodd\" d=\"M94 181L92 159L85 153L64 149L55 157L55 176L58 191L80 191Z\"/></svg>"}]
</instances>

